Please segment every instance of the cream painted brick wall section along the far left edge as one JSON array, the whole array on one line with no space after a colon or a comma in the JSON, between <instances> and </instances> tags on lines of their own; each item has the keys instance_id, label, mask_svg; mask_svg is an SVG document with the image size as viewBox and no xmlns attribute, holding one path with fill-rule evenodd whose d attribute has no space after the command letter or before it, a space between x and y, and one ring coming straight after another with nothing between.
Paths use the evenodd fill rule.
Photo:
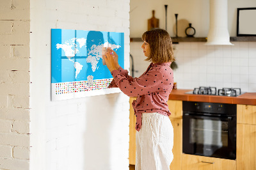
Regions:
<instances>
[{"instance_id":1,"label":"cream painted brick wall section along the far left edge","mask_svg":"<svg viewBox=\"0 0 256 170\"><path fill-rule=\"evenodd\" d=\"M29 3L0 1L0 169L29 169Z\"/></svg>"}]
</instances>

